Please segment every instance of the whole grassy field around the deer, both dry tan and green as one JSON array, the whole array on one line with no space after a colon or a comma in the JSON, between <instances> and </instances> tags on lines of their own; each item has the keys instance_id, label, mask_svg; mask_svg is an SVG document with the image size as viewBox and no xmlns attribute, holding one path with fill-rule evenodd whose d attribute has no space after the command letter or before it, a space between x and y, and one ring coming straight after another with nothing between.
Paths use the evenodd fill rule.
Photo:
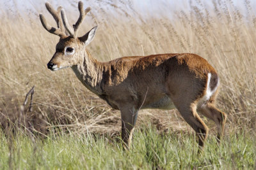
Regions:
<instances>
[{"instance_id":1,"label":"whole grassy field around the deer, both dry tan and green","mask_svg":"<svg viewBox=\"0 0 256 170\"><path fill-rule=\"evenodd\" d=\"M141 110L132 148L124 152L119 111L86 89L71 69L47 69L58 36L40 23L43 12L55 26L44 2L24 11L17 3L0 8L0 169L255 168L256 16L250 1L182 1L186 8L180 10L169 10L172 5L163 1L154 13L141 12L132 1L84 2L92 11L79 35L99 25L87 47L95 59L196 53L216 68L217 106L228 114L225 137L218 144L214 123L202 117L210 132L201 155L177 110ZM65 3L72 4L67 17L73 24L77 2ZM34 85L33 110L27 104L20 111Z\"/></svg>"}]
</instances>

